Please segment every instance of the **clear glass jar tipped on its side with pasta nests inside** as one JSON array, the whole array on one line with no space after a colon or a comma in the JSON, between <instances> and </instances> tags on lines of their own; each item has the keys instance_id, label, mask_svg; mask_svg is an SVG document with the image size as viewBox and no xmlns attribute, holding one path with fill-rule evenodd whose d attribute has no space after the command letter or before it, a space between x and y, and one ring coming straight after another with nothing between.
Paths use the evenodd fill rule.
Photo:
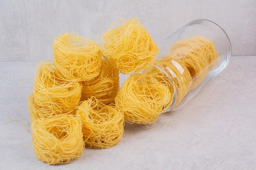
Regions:
<instances>
[{"instance_id":1,"label":"clear glass jar tipped on its side with pasta nests inside","mask_svg":"<svg viewBox=\"0 0 256 170\"><path fill-rule=\"evenodd\" d=\"M202 66L201 63L203 60L193 60L193 55L198 55L198 48L197 45L193 45L192 47L189 47L187 49L189 52L184 53L186 51L186 47L180 47L182 43L179 43L180 40L186 40L189 38L193 38L194 36L198 36L201 38L206 38L210 40L215 48L216 48L216 58L212 59L209 58L209 60L205 60L204 62L208 62L207 66ZM205 39L205 40L206 40ZM193 41L191 39L191 41ZM199 40L200 41L200 40ZM210 42L209 41L209 42ZM176 44L175 44L176 43ZM177 45L178 44L178 45ZM185 46L189 46L190 44L185 44ZM193 44L193 43L192 43ZM207 43L206 43L207 44ZM229 60L231 57L231 42L229 40L229 37L227 33L216 23L209 21L209 20L193 20L189 22L188 24L184 25L182 28L180 28L178 31L167 37L165 40L160 42L158 44L159 46L159 55L157 56L157 60L153 67L159 69L162 73L164 73L168 79L170 80L172 86L173 86L173 92L174 92L174 99L170 107L166 108L166 111L169 110L176 110L184 104L186 104L191 98L193 98L199 91L211 80L213 77L216 77L226 66L229 64ZM214 47L213 46L213 47ZM180 48L180 50L183 50L182 54L180 54L179 50L175 49ZM181 49L183 48L183 49ZM207 47L208 48L208 47ZM194 51L193 51L194 50ZM209 51L205 51L204 49L201 50L203 54L207 54ZM214 51L211 49L211 51ZM184 62L184 57L187 57L187 55L190 55L189 62ZM199 54L200 55L200 54ZM198 56L199 56L198 55ZM159 64L157 61L164 59L166 56L168 56L168 60L163 60L164 64ZM208 55L207 55L208 57ZM188 57L187 57L188 58ZM181 62L182 61L182 62ZM199 66L202 66L200 68L200 71L191 71L191 67L189 64L196 63ZM172 65L167 66L167 65ZM186 68L185 68L185 66ZM189 70L189 73L191 75L190 80L186 77ZM195 73L194 73L195 72ZM178 73L178 75L177 75ZM182 77L184 76L184 77ZM184 82L181 82L184 81ZM188 86L184 90L179 90L179 84L178 83L186 83ZM191 84L189 84L190 82ZM188 89L187 89L188 88ZM183 94L181 94L181 92Z\"/></svg>"}]
</instances>

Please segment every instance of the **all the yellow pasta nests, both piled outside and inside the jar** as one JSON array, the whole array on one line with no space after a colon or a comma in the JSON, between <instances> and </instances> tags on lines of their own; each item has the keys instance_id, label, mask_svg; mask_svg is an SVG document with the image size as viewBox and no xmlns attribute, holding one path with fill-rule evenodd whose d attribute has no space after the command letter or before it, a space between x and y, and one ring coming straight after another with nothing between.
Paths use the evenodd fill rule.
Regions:
<instances>
[{"instance_id":1,"label":"all the yellow pasta nests, both piled outside and inside the jar","mask_svg":"<svg viewBox=\"0 0 256 170\"><path fill-rule=\"evenodd\" d=\"M81 157L85 147L115 146L124 120L154 123L203 81L218 58L210 40L195 36L176 42L155 61L158 46L136 18L117 20L101 41L59 35L53 41L54 60L36 67L28 107L40 161L68 163ZM153 65L170 69L173 82ZM119 73L131 75L120 89Z\"/></svg>"}]
</instances>

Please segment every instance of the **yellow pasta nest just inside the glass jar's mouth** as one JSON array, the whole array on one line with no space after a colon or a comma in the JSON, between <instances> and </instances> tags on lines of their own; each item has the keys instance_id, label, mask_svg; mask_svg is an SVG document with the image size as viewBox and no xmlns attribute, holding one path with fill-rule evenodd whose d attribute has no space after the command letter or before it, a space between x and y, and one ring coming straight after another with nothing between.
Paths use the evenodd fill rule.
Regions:
<instances>
[{"instance_id":1,"label":"yellow pasta nest just inside the glass jar's mouth","mask_svg":"<svg viewBox=\"0 0 256 170\"><path fill-rule=\"evenodd\" d=\"M180 104L182 99L189 92L192 84L191 75L181 60L174 60L173 58L168 56L157 60L155 62L155 65L162 69L162 71L158 68L152 67L148 71L146 71L146 74L155 77L159 82L167 85L171 94L174 94L173 85L175 86L175 103L173 104L174 101L171 100L168 104L168 106L171 106L171 104L173 104L172 109L174 109ZM166 73L168 75L166 75ZM173 82L173 84L171 83L171 81Z\"/></svg>"}]
</instances>

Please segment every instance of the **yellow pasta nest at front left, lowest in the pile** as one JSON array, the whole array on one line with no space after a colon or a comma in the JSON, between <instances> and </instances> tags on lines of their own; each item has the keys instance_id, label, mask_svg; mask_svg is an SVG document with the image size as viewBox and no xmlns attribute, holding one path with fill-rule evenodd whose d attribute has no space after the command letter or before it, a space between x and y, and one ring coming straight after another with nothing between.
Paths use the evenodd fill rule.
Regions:
<instances>
[{"instance_id":1,"label":"yellow pasta nest at front left, lowest in the pile","mask_svg":"<svg viewBox=\"0 0 256 170\"><path fill-rule=\"evenodd\" d=\"M36 119L32 124L32 143L40 161L50 165L69 163L83 154L82 123L73 115Z\"/></svg>"}]
</instances>

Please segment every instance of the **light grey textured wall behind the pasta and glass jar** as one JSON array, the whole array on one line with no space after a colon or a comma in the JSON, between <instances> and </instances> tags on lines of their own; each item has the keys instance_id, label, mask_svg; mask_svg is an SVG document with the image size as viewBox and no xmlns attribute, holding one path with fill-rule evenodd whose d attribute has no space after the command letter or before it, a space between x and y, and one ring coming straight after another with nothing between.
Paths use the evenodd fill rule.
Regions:
<instances>
[{"instance_id":1,"label":"light grey textured wall behind the pasta and glass jar","mask_svg":"<svg viewBox=\"0 0 256 170\"><path fill-rule=\"evenodd\" d=\"M94 39L121 17L139 18L157 43L191 20L212 20L232 55L256 55L256 0L1 0L0 11L0 61L50 60L57 35Z\"/></svg>"}]
</instances>

